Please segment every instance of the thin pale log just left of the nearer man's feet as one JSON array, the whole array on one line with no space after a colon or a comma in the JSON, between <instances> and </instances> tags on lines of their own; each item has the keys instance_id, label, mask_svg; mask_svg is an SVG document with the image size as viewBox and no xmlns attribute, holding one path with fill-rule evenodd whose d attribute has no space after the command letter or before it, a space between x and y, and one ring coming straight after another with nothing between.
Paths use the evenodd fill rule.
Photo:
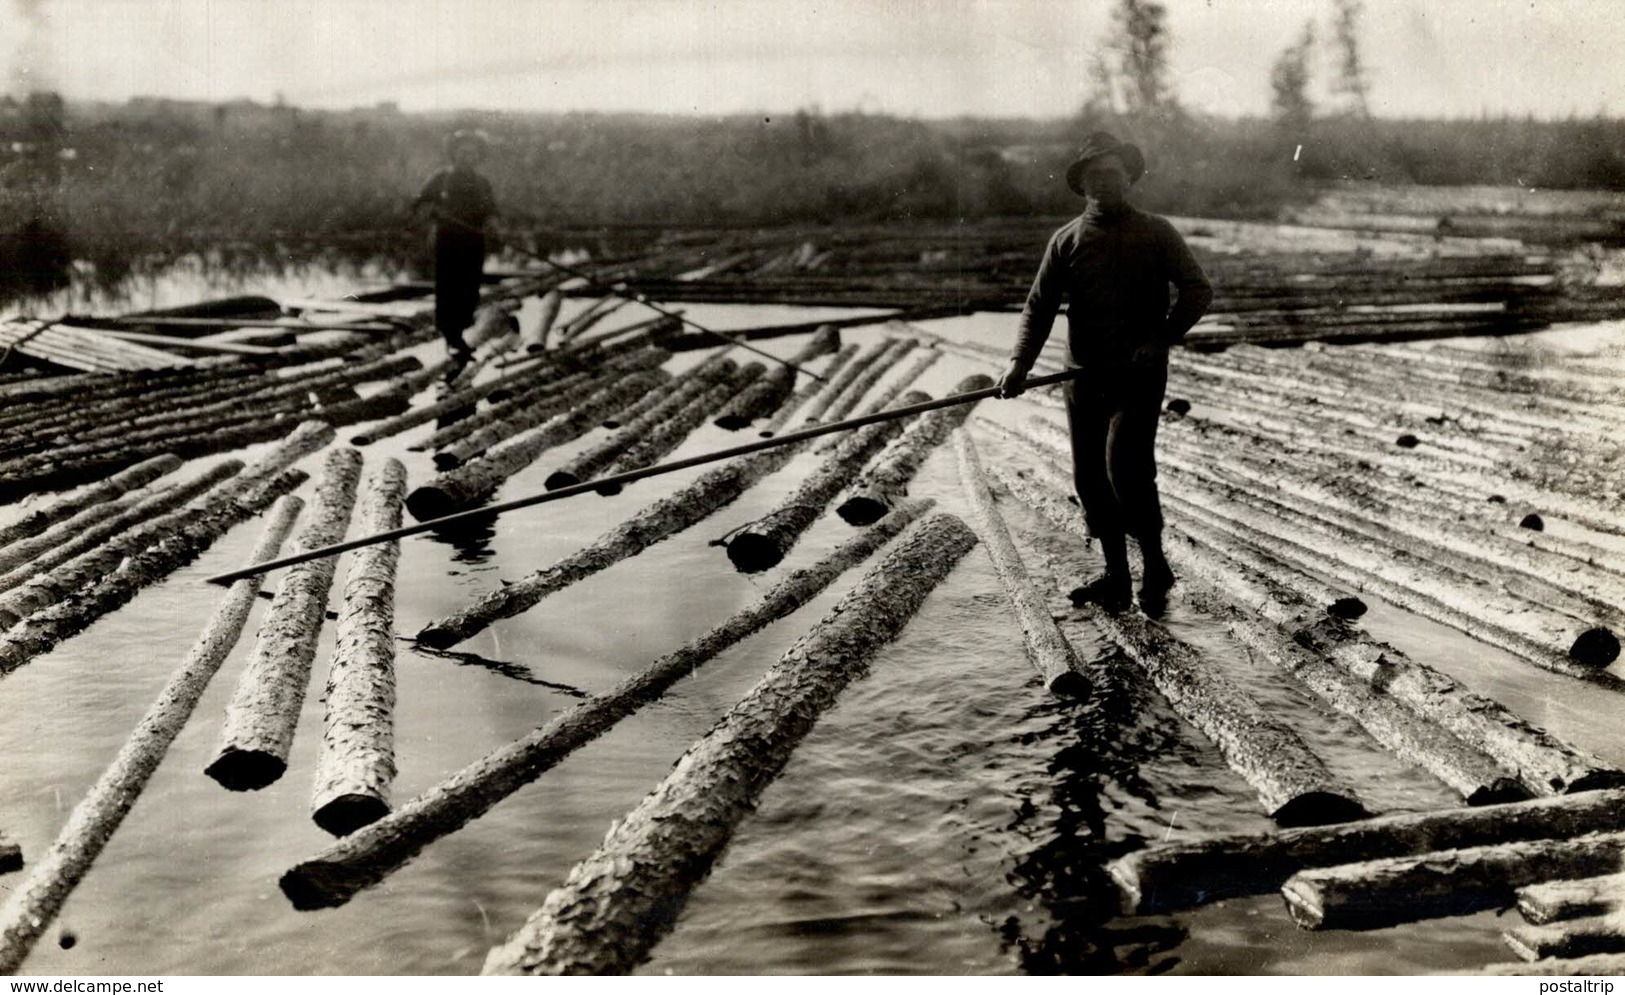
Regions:
<instances>
[{"instance_id":1,"label":"thin pale log just left of the nearer man's feet","mask_svg":"<svg viewBox=\"0 0 1625 995\"><path fill-rule=\"evenodd\" d=\"M1038 678L1043 680L1043 686L1051 694L1087 697L1089 678L1077 667L1072 644L1061 634L1050 608L1034 589L1027 566L1020 561L1016 543L1011 541L1004 517L993 506L993 493L988 489L982 462L977 458L975 442L970 441L968 432L959 429L954 434L954 445L959 452L959 480L970 501L972 527L982 537L982 548L993 559L993 569L999 576L999 584L1004 585L1004 595L1011 600L1011 610L1020 626L1022 645L1027 649L1027 662L1038 671Z\"/></svg>"}]
</instances>

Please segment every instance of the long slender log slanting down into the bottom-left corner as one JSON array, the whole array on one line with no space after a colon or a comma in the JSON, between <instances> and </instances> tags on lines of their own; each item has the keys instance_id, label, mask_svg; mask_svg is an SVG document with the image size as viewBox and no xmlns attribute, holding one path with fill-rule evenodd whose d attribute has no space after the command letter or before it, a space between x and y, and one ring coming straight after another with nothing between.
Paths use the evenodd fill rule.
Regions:
<instances>
[{"instance_id":1,"label":"long slender log slanting down into the bottom-left corner","mask_svg":"<svg viewBox=\"0 0 1625 995\"><path fill-rule=\"evenodd\" d=\"M254 563L276 556L302 506L304 502L292 496L276 502L254 548ZM164 754L169 753L169 745L192 717L203 689L237 644L260 584L260 577L250 577L231 585L192 652L148 707L146 715L119 750L119 756L73 808L57 841L34 865L28 880L11 889L5 907L0 909L0 974L15 974L21 967L34 943L50 927L63 902L124 823L124 816L130 813Z\"/></svg>"}]
</instances>

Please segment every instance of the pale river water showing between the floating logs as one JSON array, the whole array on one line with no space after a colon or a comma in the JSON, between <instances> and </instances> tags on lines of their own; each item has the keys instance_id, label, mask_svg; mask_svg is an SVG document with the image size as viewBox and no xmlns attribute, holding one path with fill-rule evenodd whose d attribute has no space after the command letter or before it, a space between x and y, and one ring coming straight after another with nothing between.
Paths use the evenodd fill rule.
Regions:
<instances>
[{"instance_id":1,"label":"pale river water showing between the floating logs","mask_svg":"<svg viewBox=\"0 0 1625 995\"><path fill-rule=\"evenodd\" d=\"M696 306L689 314L728 328L835 312ZM931 327L994 343L1012 333L1011 317L1001 315ZM881 333L876 327L847 335L866 341ZM770 348L788 354L795 343L780 340ZM422 350L426 358L434 351ZM689 353L678 363L697 358ZM977 369L946 356L920 387L941 395ZM983 406L1012 423L1034 410L1025 402ZM369 465L396 455L413 481L426 480L427 455L406 445L429 428L367 447ZM541 489L552 467L592 441L549 454L502 494ZM707 426L676 455L738 441ZM983 437L985 458L991 447ZM307 460L309 468L318 458ZM713 519L492 626L463 644L462 655L429 654L401 641L396 800L526 733L582 694L608 689L752 602L778 571L736 574L708 541L769 511L817 458L800 455ZM504 579L554 563L700 471L639 483L616 498L583 496L510 514L473 535L408 540L396 629L414 632ZM931 457L912 491L949 511L964 507L951 447ZM1037 520L1006 507L1017 537L1034 540ZM0 520L18 511L0 509ZM218 589L202 579L244 563L258 532L258 522L239 527L166 584L0 681L0 828L26 857L49 847L202 631L218 598ZM827 515L786 566L811 563L847 535L848 527ZM1063 559L1077 556L1056 550ZM1087 559L1076 563L1087 566ZM340 563L340 582L348 558ZM723 654L488 816L431 845L385 884L323 912L294 912L276 880L328 841L309 818L309 798L332 628L317 655L288 776L262 792L229 793L202 774L262 603L26 971L478 972L486 949L541 904L609 823L861 572L852 571L814 605ZM1295 725L1316 730L1315 745L1381 808L1451 803L1436 784L1383 761L1346 725L1280 689L1279 680L1253 673L1211 623L1175 606L1165 624L1233 665ZM1575 704L1560 678L1381 605L1370 628L1414 652L1425 649L1428 660L1529 719L1625 763L1617 723ZM1098 657L1102 649L1077 645L1082 657ZM1493 914L1344 935L1295 930L1272 896L1170 917L1115 917L1102 860L1146 839L1263 831L1269 823L1212 746L1155 694L1133 678L1097 676L1102 694L1089 704L1051 701L1024 658L986 554L972 551L874 660L873 673L824 715L644 971L1386 974L1505 959ZM0 878L0 888L6 883Z\"/></svg>"}]
</instances>

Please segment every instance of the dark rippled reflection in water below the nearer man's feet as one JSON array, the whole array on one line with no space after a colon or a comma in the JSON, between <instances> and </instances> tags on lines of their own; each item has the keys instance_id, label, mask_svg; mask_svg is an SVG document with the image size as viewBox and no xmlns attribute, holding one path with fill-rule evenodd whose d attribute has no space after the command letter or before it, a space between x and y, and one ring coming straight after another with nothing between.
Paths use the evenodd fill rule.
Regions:
<instances>
[{"instance_id":1,"label":"dark rippled reflection in water below the nearer man's feet","mask_svg":"<svg viewBox=\"0 0 1625 995\"><path fill-rule=\"evenodd\" d=\"M1186 930L1167 920L1113 923L1121 897L1105 865L1144 847L1146 839L1108 837L1105 789L1113 784L1159 808L1139 767L1180 750L1178 727L1157 707L1152 691L1124 680L1133 671L1126 658L1113 654L1084 670L1094 686L1089 702L1035 706L1056 712L1045 733L1058 743L1048 766L1050 798L1042 810L1024 803L1008 826L1016 839L1042 841L1017 858L1009 880L1048 922L1034 935L1011 917L1001 935L1029 974L1160 974L1178 964L1167 954L1185 941Z\"/></svg>"}]
</instances>

